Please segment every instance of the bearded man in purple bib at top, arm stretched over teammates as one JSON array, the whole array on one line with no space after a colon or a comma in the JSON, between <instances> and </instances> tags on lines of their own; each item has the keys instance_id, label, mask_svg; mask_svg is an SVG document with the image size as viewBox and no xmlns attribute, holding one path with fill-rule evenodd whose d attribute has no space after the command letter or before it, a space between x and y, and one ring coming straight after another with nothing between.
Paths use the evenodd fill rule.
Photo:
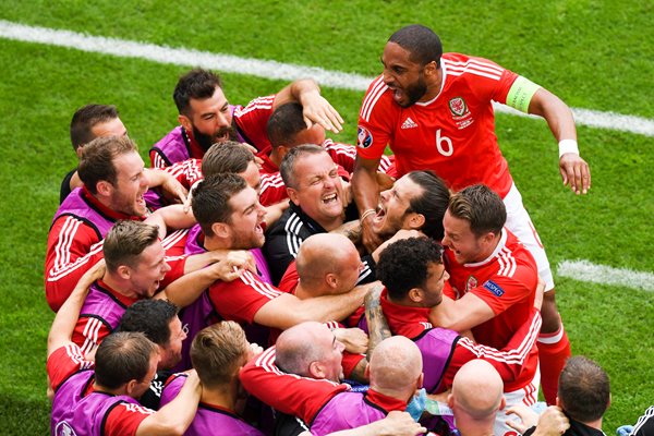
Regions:
<instances>
[{"instance_id":1,"label":"bearded man in purple bib at top, arm stretched over teammates","mask_svg":"<svg viewBox=\"0 0 654 436\"><path fill-rule=\"evenodd\" d=\"M288 101L303 105L307 124L319 123L338 132L343 122L320 96L313 80L295 81L276 95L256 98L243 108L228 102L217 74L194 69L180 77L173 99L181 125L153 146L149 152L153 168L189 158L201 159L213 144L227 140L247 143L256 147L258 154L268 154L266 122L275 108Z\"/></svg>"}]
</instances>

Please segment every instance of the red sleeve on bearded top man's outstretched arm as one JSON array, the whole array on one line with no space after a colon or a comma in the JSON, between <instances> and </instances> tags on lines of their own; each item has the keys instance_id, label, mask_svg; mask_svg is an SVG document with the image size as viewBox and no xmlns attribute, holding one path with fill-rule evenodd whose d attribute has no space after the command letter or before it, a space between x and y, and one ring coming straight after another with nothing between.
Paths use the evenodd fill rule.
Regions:
<instances>
[{"instance_id":1,"label":"red sleeve on bearded top man's outstretched arm","mask_svg":"<svg viewBox=\"0 0 654 436\"><path fill-rule=\"evenodd\" d=\"M266 125L272 114L272 104L276 96L258 97L250 101L247 106L237 107L233 119L241 132L254 145L259 154L269 155L272 147L268 141Z\"/></svg>"}]
</instances>

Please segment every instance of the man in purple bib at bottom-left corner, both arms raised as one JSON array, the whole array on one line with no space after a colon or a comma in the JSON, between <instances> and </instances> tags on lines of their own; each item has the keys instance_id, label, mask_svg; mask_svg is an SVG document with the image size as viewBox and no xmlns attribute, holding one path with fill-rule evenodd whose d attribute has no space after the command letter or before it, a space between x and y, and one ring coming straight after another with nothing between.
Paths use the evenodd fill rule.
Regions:
<instances>
[{"instance_id":1,"label":"man in purple bib at bottom-left corner, both arms raised","mask_svg":"<svg viewBox=\"0 0 654 436\"><path fill-rule=\"evenodd\" d=\"M181 434L189 426L199 400L199 380L191 374L178 398L158 412L137 399L154 377L159 353L143 334L108 337L95 362L87 361L71 342L94 268L83 277L52 322L48 335L47 372L53 391L51 433L56 435Z\"/></svg>"}]
</instances>

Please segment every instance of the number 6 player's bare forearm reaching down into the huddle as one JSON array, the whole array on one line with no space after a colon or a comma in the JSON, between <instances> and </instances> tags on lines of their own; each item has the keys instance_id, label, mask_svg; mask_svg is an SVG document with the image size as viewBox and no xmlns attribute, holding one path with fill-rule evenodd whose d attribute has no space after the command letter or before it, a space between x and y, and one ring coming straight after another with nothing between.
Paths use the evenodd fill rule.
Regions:
<instances>
[{"instance_id":1,"label":"number 6 player's bare forearm reaching down into the huddle","mask_svg":"<svg viewBox=\"0 0 654 436\"><path fill-rule=\"evenodd\" d=\"M377 183L377 167L379 159L364 159L356 156L352 173L352 194L361 217L362 241L368 253L382 244L382 239L372 229L373 217L379 199Z\"/></svg>"}]
</instances>

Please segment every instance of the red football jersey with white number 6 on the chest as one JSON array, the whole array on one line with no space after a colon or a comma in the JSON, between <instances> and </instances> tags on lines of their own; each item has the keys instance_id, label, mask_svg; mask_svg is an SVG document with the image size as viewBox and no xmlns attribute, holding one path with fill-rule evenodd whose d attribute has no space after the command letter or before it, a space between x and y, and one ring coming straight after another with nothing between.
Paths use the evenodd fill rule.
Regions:
<instances>
[{"instance_id":1,"label":"red football jersey with white number 6 on the chest","mask_svg":"<svg viewBox=\"0 0 654 436\"><path fill-rule=\"evenodd\" d=\"M440 93L409 108L395 102L383 76L373 81L359 113L359 156L378 159L388 145L398 177L431 169L455 191L484 183L504 197L512 179L497 145L492 100L506 102L518 75L459 53L445 53L440 65Z\"/></svg>"}]
</instances>

